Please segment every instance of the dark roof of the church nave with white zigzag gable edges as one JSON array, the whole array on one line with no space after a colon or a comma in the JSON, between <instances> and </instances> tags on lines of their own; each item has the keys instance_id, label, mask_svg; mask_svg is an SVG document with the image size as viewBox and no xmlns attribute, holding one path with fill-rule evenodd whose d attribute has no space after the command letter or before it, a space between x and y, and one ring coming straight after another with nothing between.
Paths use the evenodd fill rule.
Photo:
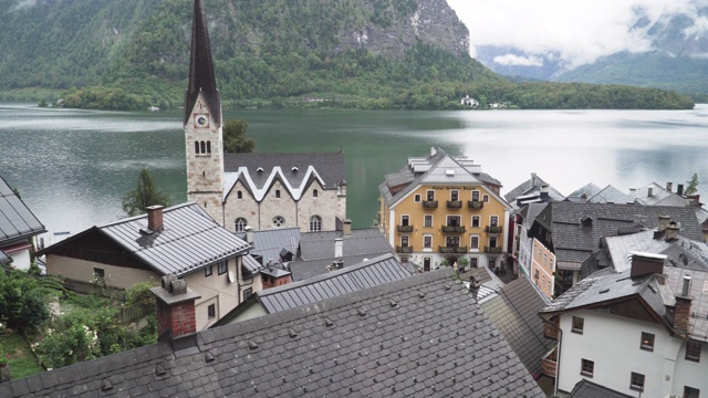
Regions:
<instances>
[{"instance_id":1,"label":"dark roof of the church nave with white zigzag gable edges","mask_svg":"<svg viewBox=\"0 0 708 398\"><path fill-rule=\"evenodd\" d=\"M310 166L314 167L324 181L324 189L336 189L341 182L345 181L346 172L344 153L342 151L223 154L223 170L236 172L240 167L246 167L253 186L249 186L248 180L242 180L242 182L251 189L264 188L275 167L282 170L282 176L292 187L301 187ZM296 172L293 172L293 167L298 168ZM259 168L262 168L263 171L258 172Z\"/></svg>"}]
</instances>

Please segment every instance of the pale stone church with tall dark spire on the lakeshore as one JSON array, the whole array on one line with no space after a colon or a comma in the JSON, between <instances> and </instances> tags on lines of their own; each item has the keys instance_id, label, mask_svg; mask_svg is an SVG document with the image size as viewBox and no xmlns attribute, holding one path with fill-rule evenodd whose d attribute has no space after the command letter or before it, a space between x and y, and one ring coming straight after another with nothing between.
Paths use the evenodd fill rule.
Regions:
<instances>
[{"instance_id":1,"label":"pale stone church with tall dark spire on the lakeshore","mask_svg":"<svg viewBox=\"0 0 708 398\"><path fill-rule=\"evenodd\" d=\"M185 93L187 199L239 232L298 227L334 231L346 218L344 154L225 154L207 18L195 1ZM337 228L339 227L339 228Z\"/></svg>"}]
</instances>

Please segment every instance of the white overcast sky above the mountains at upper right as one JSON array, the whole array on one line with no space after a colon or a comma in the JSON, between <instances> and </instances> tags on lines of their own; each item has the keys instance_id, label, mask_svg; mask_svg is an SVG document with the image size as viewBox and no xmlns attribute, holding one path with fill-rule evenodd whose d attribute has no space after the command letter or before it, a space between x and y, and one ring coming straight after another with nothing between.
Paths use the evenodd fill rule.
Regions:
<instances>
[{"instance_id":1,"label":"white overcast sky above the mountains at upper right","mask_svg":"<svg viewBox=\"0 0 708 398\"><path fill-rule=\"evenodd\" d=\"M628 50L649 49L643 30L631 31L643 10L649 20L674 13L695 14L708 0L448 0L476 45L513 45L532 53L558 52L573 65ZM697 21L706 29L708 20ZM508 60L534 63L538 60ZM499 62L499 61L498 61Z\"/></svg>"}]
</instances>

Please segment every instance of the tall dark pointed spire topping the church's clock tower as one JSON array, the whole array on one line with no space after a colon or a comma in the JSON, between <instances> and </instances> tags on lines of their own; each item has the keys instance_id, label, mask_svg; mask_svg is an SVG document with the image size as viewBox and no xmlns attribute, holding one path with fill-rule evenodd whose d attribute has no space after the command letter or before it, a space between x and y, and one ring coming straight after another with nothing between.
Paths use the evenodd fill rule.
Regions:
<instances>
[{"instance_id":1,"label":"tall dark pointed spire topping the church's clock tower","mask_svg":"<svg viewBox=\"0 0 708 398\"><path fill-rule=\"evenodd\" d=\"M201 0L195 0L194 22L191 24L191 56L189 60L189 85L185 93L185 124L191 116L199 93L207 102L216 125L221 125L221 97L214 75L211 45L207 17Z\"/></svg>"}]
</instances>

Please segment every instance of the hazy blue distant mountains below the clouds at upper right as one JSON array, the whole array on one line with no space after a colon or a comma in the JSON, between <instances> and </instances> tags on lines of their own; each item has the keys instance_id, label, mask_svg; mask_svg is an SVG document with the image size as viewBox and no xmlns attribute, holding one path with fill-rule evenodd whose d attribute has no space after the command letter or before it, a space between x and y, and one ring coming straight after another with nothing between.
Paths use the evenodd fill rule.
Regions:
<instances>
[{"instance_id":1,"label":"hazy blue distant mountains below the clouds at upper right","mask_svg":"<svg viewBox=\"0 0 708 398\"><path fill-rule=\"evenodd\" d=\"M509 76L631 84L705 95L708 93L708 31L704 29L707 18L708 7L653 19L638 8L627 29L641 33L649 44L647 51L620 52L575 67L559 53L529 53L509 46L479 46L477 60Z\"/></svg>"}]
</instances>

